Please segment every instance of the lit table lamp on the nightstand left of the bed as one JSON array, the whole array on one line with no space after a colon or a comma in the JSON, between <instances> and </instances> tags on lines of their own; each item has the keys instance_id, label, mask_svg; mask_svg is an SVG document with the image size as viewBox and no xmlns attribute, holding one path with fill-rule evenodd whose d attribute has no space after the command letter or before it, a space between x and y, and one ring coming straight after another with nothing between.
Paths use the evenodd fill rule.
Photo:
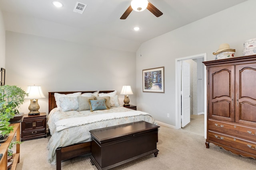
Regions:
<instances>
[{"instance_id":1,"label":"lit table lamp on the nightstand left of the bed","mask_svg":"<svg viewBox=\"0 0 256 170\"><path fill-rule=\"evenodd\" d=\"M38 99L45 98L41 86L28 86L26 93L28 93L27 99L30 99L30 105L28 106L30 112L28 115L40 115Z\"/></svg>"}]
</instances>

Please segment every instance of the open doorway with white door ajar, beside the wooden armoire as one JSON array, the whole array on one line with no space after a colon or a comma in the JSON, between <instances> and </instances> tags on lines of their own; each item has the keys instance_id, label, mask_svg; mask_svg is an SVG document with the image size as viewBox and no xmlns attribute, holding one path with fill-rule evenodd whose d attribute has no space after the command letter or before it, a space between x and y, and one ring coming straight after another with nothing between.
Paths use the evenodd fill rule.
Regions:
<instances>
[{"instance_id":1,"label":"open doorway with white door ajar, beside the wooden armoire","mask_svg":"<svg viewBox=\"0 0 256 170\"><path fill-rule=\"evenodd\" d=\"M184 62L186 61L186 62ZM190 122L190 115L194 117L194 115L204 114L204 137L206 137L206 68L202 61L206 61L206 53L200 55L194 55L184 58L176 59L176 129L180 129L184 127L186 123ZM182 64L189 63L190 65L190 84L192 85L190 97L190 106L191 109L187 113L184 111L184 106L187 107L188 102L182 99L182 95L184 98L188 96L188 94L184 94L182 92L182 74L184 70L182 70ZM193 71L194 69L194 71ZM185 74L184 74L185 75ZM183 104L182 104L183 102ZM183 114L183 115L182 115ZM185 115L186 114L186 115ZM189 115L188 115L189 114ZM189 117L188 117L189 116ZM184 119L184 120L182 120ZM183 122L182 122L183 121ZM182 123L184 123L182 125Z\"/></svg>"}]
</instances>

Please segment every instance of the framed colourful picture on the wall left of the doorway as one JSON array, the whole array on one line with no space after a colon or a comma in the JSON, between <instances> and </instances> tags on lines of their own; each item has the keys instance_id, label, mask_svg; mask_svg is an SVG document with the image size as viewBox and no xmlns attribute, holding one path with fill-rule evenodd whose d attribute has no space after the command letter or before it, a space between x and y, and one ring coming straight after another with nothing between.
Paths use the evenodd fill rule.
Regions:
<instances>
[{"instance_id":1,"label":"framed colourful picture on the wall left of the doorway","mask_svg":"<svg viewBox=\"0 0 256 170\"><path fill-rule=\"evenodd\" d=\"M164 66L142 70L143 92L164 93Z\"/></svg>"}]
</instances>

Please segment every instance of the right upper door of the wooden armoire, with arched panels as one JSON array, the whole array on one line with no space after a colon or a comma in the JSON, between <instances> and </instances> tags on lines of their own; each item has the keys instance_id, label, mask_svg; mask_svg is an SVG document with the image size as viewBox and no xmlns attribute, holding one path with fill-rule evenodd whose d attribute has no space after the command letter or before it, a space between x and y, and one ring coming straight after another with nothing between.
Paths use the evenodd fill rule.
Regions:
<instances>
[{"instance_id":1,"label":"right upper door of the wooden armoire, with arched panels","mask_svg":"<svg viewBox=\"0 0 256 170\"><path fill-rule=\"evenodd\" d=\"M236 65L236 122L256 126L256 63Z\"/></svg>"}]
</instances>

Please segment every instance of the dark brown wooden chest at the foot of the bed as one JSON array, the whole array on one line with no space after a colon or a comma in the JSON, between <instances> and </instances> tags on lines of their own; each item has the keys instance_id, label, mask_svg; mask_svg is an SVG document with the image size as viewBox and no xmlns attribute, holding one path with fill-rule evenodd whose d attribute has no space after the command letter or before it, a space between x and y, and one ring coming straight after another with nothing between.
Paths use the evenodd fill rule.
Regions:
<instances>
[{"instance_id":1,"label":"dark brown wooden chest at the foot of the bed","mask_svg":"<svg viewBox=\"0 0 256 170\"><path fill-rule=\"evenodd\" d=\"M143 156L158 154L159 126L138 121L91 130L91 162L99 170L107 170Z\"/></svg>"}]
</instances>

